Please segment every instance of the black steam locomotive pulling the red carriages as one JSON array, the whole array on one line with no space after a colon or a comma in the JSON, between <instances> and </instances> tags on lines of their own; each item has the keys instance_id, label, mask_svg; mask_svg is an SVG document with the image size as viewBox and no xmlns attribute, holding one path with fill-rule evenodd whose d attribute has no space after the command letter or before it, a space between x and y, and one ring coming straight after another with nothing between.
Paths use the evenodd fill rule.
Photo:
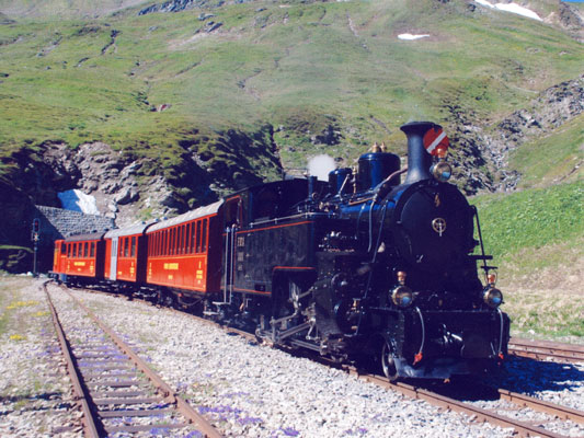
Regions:
<instances>
[{"instance_id":1,"label":"black steam locomotive pulling the red carriages","mask_svg":"<svg viewBox=\"0 0 584 438\"><path fill-rule=\"evenodd\" d=\"M499 309L477 210L446 182L440 127L401 129L404 183L399 157L371 152L355 174L337 169L329 183L279 181L226 198L222 297L207 300L205 313L276 345L376 358L391 380L500 364L509 320Z\"/></svg>"}]
</instances>

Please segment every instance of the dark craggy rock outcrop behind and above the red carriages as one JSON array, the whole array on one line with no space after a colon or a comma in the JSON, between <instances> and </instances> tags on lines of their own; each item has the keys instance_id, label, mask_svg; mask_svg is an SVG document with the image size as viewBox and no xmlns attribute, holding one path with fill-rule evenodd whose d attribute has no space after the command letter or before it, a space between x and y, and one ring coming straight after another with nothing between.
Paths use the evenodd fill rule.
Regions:
<instances>
[{"instance_id":1,"label":"dark craggy rock outcrop behind and above the red carriages","mask_svg":"<svg viewBox=\"0 0 584 438\"><path fill-rule=\"evenodd\" d=\"M19 170L13 183L22 187L22 197L51 207L60 207L58 193L79 189L95 198L101 215L124 227L209 204L268 174L277 177L282 164L273 134L264 126L252 134L230 129L205 142L185 140L175 148L172 165L103 142L77 149L47 142L41 151L13 157Z\"/></svg>"}]
</instances>

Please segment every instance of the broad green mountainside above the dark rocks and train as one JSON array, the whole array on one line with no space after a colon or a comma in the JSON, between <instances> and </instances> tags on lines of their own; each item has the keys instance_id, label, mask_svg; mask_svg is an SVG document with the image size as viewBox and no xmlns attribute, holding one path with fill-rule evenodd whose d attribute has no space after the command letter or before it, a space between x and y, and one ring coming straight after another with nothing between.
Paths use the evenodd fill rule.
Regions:
<instances>
[{"instance_id":1,"label":"broad green mountainside above the dark rocks and train","mask_svg":"<svg viewBox=\"0 0 584 438\"><path fill-rule=\"evenodd\" d=\"M276 138L290 166L329 126L341 131L330 152L348 159L374 139L401 149L410 119L448 123L445 104L492 120L575 78L584 54L550 25L463 1L254 1L204 21L137 11L0 27L2 149L103 140L156 157L193 127L270 123L286 128ZM209 21L222 25L207 33ZM151 111L160 104L171 107Z\"/></svg>"}]
</instances>

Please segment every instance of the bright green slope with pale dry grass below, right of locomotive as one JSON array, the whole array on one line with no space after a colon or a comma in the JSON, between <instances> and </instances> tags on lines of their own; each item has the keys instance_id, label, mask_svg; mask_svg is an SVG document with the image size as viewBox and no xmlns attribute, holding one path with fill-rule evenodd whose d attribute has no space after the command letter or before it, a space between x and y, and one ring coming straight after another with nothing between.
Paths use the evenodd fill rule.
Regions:
<instances>
[{"instance_id":1,"label":"bright green slope with pale dry grass below, right of locomotive","mask_svg":"<svg viewBox=\"0 0 584 438\"><path fill-rule=\"evenodd\" d=\"M474 199L517 335L584 337L584 182Z\"/></svg>"}]
</instances>

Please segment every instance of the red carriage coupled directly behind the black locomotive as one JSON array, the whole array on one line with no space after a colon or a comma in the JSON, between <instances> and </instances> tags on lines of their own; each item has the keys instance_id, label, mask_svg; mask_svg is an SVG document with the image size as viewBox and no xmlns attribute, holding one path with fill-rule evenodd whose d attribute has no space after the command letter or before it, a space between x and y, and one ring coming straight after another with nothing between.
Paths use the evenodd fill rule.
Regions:
<instances>
[{"instance_id":1,"label":"red carriage coupled directly behind the black locomotive","mask_svg":"<svg viewBox=\"0 0 584 438\"><path fill-rule=\"evenodd\" d=\"M147 230L147 283L201 293L219 292L222 200Z\"/></svg>"}]
</instances>

